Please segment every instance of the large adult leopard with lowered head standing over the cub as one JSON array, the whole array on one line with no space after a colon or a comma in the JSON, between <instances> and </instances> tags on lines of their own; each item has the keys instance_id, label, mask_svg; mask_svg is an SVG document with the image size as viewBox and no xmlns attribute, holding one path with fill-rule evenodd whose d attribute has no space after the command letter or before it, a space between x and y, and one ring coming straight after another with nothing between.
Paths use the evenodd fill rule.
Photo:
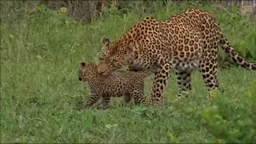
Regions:
<instances>
[{"instance_id":1,"label":"large adult leopard with lowered head standing over the cub","mask_svg":"<svg viewBox=\"0 0 256 144\"><path fill-rule=\"evenodd\" d=\"M150 103L162 102L162 92L169 78L171 68L177 74L178 96L187 96L191 90L191 74L199 69L210 90L217 89L218 45L238 65L247 70L256 70L256 64L238 55L214 16L206 10L190 9L168 19L157 21L145 17L123 34L117 42L102 38L101 62L108 70L122 66L138 66L154 69L154 83ZM104 73L104 72L102 72Z\"/></svg>"}]
</instances>

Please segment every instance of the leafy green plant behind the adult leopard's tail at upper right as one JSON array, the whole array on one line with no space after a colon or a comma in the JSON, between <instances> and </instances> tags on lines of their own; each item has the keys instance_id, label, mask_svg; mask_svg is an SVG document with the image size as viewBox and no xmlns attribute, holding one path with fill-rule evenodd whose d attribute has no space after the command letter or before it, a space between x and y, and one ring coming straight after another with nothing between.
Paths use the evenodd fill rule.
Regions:
<instances>
[{"instance_id":1,"label":"leafy green plant behind the adult leopard's tail at upper right","mask_svg":"<svg viewBox=\"0 0 256 144\"><path fill-rule=\"evenodd\" d=\"M256 60L256 26L253 24L255 20L243 15L238 6L234 5L231 6L231 10L226 10L224 7L221 7L221 10L215 9L214 17L217 18L230 45L238 51L238 54L254 62ZM234 65L234 62L226 57L226 54L219 54L219 59L221 63L225 61Z\"/></svg>"}]
</instances>

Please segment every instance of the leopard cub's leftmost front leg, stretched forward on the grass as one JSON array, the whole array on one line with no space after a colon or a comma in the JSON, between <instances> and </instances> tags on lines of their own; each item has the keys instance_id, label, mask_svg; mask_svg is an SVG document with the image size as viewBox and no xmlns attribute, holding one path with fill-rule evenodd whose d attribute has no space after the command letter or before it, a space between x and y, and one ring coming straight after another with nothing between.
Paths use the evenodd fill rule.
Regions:
<instances>
[{"instance_id":1,"label":"leopard cub's leftmost front leg, stretched forward on the grass","mask_svg":"<svg viewBox=\"0 0 256 144\"><path fill-rule=\"evenodd\" d=\"M91 89L90 90L90 98L83 103L83 108L88 109L90 106L93 106L100 98L102 98L102 94L99 93L97 90Z\"/></svg>"}]
</instances>

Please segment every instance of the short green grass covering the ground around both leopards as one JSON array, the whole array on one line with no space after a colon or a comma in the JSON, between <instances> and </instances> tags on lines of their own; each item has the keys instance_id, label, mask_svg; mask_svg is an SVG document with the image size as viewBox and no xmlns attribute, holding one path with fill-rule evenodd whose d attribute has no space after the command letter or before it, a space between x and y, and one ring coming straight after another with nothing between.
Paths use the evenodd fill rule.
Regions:
<instances>
[{"instance_id":1,"label":"short green grass covering the ground around both leopards","mask_svg":"<svg viewBox=\"0 0 256 144\"><path fill-rule=\"evenodd\" d=\"M153 16L168 18L181 10L162 8ZM210 133L171 102L154 108L125 105L114 98L110 110L77 110L78 103L89 97L89 90L78 81L79 62L98 62L95 56L102 36L116 39L146 14L109 14L90 25L48 13L33 14L1 21L1 142L166 142L168 133L180 142L209 142ZM229 14L216 12L222 29L232 43L246 41L241 39L255 30L254 21L232 23L235 19ZM242 102L256 74L238 68L220 70L219 81L223 95ZM151 82L146 79L147 97ZM180 102L193 110L209 106L198 72L193 75L193 89L190 98ZM177 90L172 74L166 97Z\"/></svg>"}]
</instances>

